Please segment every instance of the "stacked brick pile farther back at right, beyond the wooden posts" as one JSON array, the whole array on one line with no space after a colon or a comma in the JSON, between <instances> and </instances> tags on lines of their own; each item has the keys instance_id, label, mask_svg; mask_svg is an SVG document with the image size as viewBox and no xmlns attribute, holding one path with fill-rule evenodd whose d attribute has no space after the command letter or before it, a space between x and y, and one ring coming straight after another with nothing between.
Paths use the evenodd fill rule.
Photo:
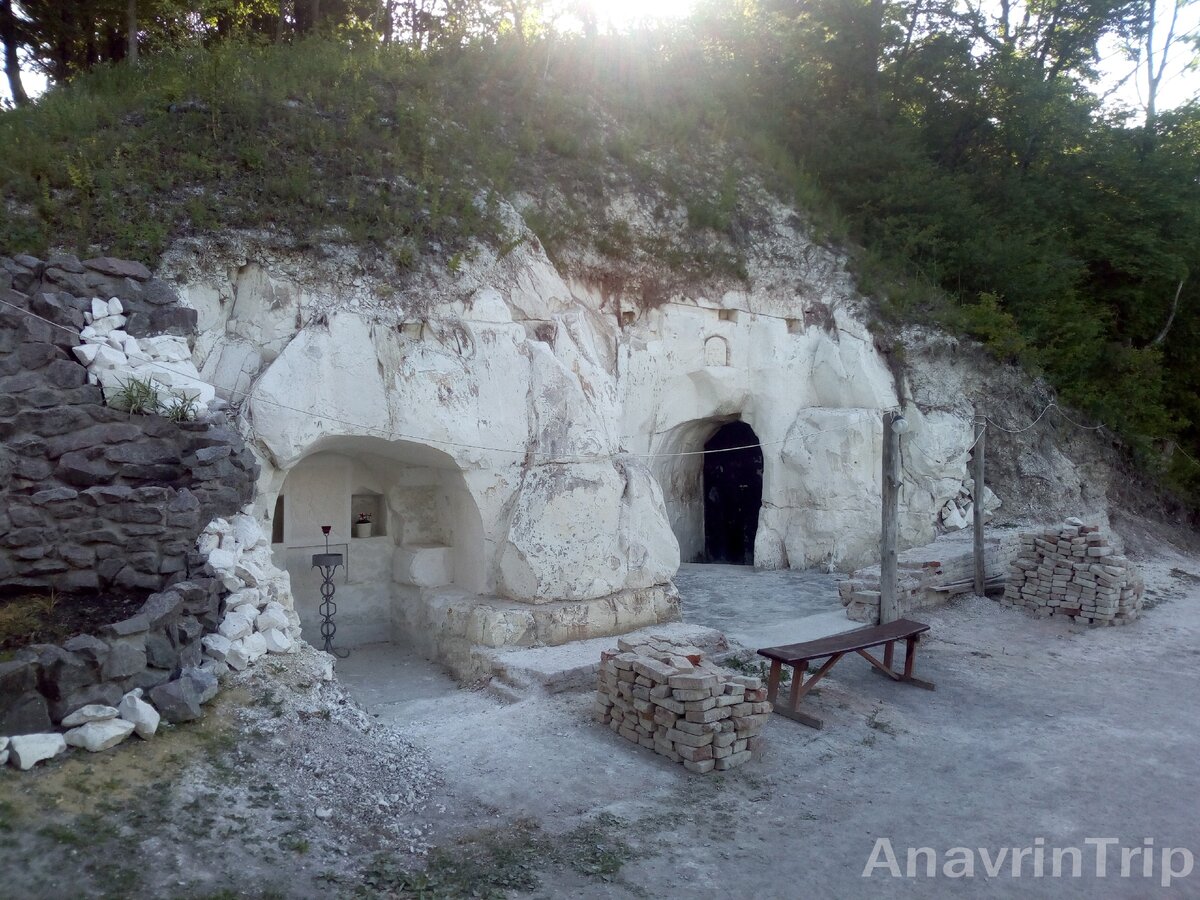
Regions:
<instances>
[{"instance_id":1,"label":"stacked brick pile farther back at right, beyond the wooden posts","mask_svg":"<svg viewBox=\"0 0 1200 900\"><path fill-rule=\"evenodd\" d=\"M1138 618L1144 589L1141 576L1114 554L1099 526L1068 520L1061 528L1021 535L1001 602L1086 625L1123 625Z\"/></svg>"}]
</instances>

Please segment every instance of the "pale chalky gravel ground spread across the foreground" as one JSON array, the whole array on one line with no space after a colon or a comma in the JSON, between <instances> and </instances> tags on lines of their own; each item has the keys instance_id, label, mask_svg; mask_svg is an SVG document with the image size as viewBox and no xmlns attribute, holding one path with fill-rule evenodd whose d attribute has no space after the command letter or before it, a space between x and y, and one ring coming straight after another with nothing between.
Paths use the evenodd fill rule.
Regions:
<instances>
[{"instance_id":1,"label":"pale chalky gravel ground spread across the foreground","mask_svg":"<svg viewBox=\"0 0 1200 900\"><path fill-rule=\"evenodd\" d=\"M1200 874L1162 887L1159 856L1120 876L1146 839L1200 854L1200 558L1139 562L1139 623L960 599L928 617L936 692L846 659L811 700L824 730L776 716L763 758L716 776L594 726L586 694L505 704L414 665L412 703L364 710L314 650L270 660L200 724L0 774L0 896L1200 896ZM1118 840L1103 878L1090 838ZM881 839L937 874L863 877ZM1038 839L1040 878L977 850L973 877L943 870ZM1072 846L1080 877L1051 877Z\"/></svg>"}]
</instances>

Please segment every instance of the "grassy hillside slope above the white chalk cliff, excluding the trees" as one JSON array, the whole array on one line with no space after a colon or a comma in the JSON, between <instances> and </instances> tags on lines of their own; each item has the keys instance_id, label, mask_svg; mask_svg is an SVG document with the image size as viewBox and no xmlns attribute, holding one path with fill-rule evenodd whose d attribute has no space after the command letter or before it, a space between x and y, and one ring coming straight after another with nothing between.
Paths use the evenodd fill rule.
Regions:
<instances>
[{"instance_id":1,"label":"grassy hillside slope above the white chalk cliff, excluding the trees","mask_svg":"<svg viewBox=\"0 0 1200 900\"><path fill-rule=\"evenodd\" d=\"M154 264L178 238L256 229L358 247L388 280L422 260L455 271L476 241L503 256L499 202L523 192L556 262L598 246L612 265L744 278L745 150L690 80L619 41L569 38L455 54L227 42L100 67L0 114L0 252ZM606 228L617 192L686 221L653 241Z\"/></svg>"}]
</instances>

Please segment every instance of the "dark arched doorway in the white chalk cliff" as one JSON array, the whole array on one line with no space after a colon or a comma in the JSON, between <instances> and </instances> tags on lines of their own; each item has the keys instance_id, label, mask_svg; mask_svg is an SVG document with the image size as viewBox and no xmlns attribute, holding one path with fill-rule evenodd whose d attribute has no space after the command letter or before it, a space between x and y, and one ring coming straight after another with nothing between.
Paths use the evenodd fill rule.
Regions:
<instances>
[{"instance_id":1,"label":"dark arched doorway in the white chalk cliff","mask_svg":"<svg viewBox=\"0 0 1200 900\"><path fill-rule=\"evenodd\" d=\"M722 425L704 444L704 559L754 565L762 505L762 448L742 421Z\"/></svg>"}]
</instances>

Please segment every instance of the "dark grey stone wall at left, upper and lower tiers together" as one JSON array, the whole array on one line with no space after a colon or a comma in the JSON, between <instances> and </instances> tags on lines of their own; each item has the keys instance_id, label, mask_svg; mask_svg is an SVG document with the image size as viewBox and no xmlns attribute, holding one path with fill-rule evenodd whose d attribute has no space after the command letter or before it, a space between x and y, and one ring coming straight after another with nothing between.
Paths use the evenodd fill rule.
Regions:
<instances>
[{"instance_id":1,"label":"dark grey stone wall at left, upper and lower tiers together","mask_svg":"<svg viewBox=\"0 0 1200 900\"><path fill-rule=\"evenodd\" d=\"M202 638L230 586L197 538L253 499L257 464L220 413L176 422L104 404L76 350L113 298L130 335L179 342L194 329L194 311L140 264L0 258L0 596L54 590L114 608L91 634L0 662L0 734L48 732L139 690L180 721L216 690Z\"/></svg>"}]
</instances>

